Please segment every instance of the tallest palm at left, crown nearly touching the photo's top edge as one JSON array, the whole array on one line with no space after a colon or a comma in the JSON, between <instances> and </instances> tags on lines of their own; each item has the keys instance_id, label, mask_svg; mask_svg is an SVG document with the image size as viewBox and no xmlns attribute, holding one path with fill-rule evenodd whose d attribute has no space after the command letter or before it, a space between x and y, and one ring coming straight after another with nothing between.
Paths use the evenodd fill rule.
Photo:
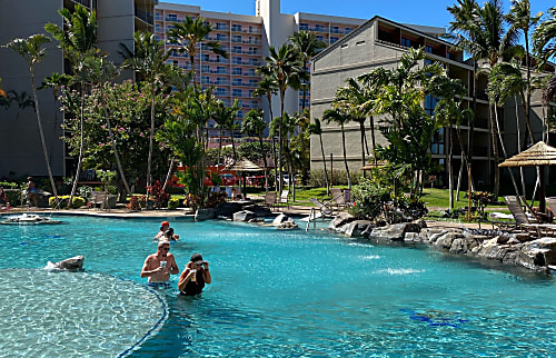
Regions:
<instances>
[{"instance_id":1,"label":"tallest palm at left, crown nearly touching the photo's top edge","mask_svg":"<svg viewBox=\"0 0 556 358\"><path fill-rule=\"evenodd\" d=\"M60 28L54 23L47 23L44 30L49 32L59 42L59 48L63 50L63 56L68 58L72 64L75 73L82 71L85 59L95 56L97 49L97 11L89 12L83 6L77 4L76 10L71 13L68 9L63 8L58 11L63 19L63 27ZM79 172L81 171L81 163L83 160L85 151L85 87L86 82L81 81L81 110L80 110L80 140L79 140L79 158L77 161L76 177L73 178L73 186L71 187L70 198L68 200L68 208L71 206L73 196L77 190L77 182L79 180Z\"/></svg>"}]
</instances>

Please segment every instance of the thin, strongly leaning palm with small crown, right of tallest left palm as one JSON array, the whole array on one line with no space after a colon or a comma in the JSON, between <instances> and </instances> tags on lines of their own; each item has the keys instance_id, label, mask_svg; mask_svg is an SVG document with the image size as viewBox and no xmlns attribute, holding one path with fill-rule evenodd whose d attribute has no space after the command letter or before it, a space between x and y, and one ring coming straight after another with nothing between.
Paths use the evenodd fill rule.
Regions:
<instances>
[{"instance_id":1,"label":"thin, strongly leaning palm with small crown, right of tallest left palm","mask_svg":"<svg viewBox=\"0 0 556 358\"><path fill-rule=\"evenodd\" d=\"M121 180L123 181L123 187L126 188L127 193L131 195L128 181L126 180L126 175L123 173L123 169L121 167L118 148L116 147L116 138L113 137L112 125L110 123L110 116L108 113L108 106L103 92L108 82L117 78L120 72L112 62L106 60L105 56L87 58L85 62L85 68L88 70L87 78L99 90L101 106L105 110L105 119L107 122L108 136L110 137L110 142L112 143L112 151L116 158L118 172L120 173Z\"/></svg>"}]
</instances>

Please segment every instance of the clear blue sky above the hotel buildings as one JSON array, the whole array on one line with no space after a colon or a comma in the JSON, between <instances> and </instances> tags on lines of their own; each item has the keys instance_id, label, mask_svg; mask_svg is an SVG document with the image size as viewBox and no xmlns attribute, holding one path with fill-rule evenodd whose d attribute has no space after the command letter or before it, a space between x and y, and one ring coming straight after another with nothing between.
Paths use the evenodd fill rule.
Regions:
<instances>
[{"instance_id":1,"label":"clear blue sky above the hotel buildings","mask_svg":"<svg viewBox=\"0 0 556 358\"><path fill-rule=\"evenodd\" d=\"M162 0L165 2L200 6L202 10L255 14L255 0ZM277 0L272 0L277 1ZM479 0L479 3L483 1ZM370 19L375 14L401 23L416 23L445 28L450 21L446 8L456 0L281 0L281 12L312 12L348 18ZM510 1L503 0L508 11ZM532 12L546 12L555 0L530 0Z\"/></svg>"}]
</instances>

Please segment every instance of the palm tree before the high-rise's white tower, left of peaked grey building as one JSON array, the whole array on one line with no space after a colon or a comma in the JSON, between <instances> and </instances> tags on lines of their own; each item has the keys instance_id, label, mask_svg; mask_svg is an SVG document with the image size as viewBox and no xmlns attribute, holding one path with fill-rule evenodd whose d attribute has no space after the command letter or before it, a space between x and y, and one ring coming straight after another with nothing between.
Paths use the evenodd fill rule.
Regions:
<instances>
[{"instance_id":1,"label":"palm tree before the high-rise's white tower, left of peaked grey building","mask_svg":"<svg viewBox=\"0 0 556 358\"><path fill-rule=\"evenodd\" d=\"M274 76L276 79L278 93L280 95L280 126L278 133L278 191L281 192L282 189L282 126L281 121L284 118L284 101L286 97L286 90L288 87L296 87L299 82L299 73L301 69L298 67L297 52L291 44L284 44L278 50L274 47L269 48L269 56L266 58L267 64L259 68L260 73L265 76Z\"/></svg>"}]
</instances>

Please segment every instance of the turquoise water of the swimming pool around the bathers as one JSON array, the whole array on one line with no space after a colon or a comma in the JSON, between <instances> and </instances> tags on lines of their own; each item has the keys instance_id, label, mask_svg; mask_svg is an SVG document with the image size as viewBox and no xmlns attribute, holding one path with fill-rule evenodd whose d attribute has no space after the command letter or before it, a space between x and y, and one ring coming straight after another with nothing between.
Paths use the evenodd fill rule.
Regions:
<instances>
[{"instance_id":1,"label":"turquoise water of the swimming pool around the bathers","mask_svg":"<svg viewBox=\"0 0 556 358\"><path fill-rule=\"evenodd\" d=\"M139 277L145 258L156 251L150 238L160 220L62 220L67 223L0 227L0 274L11 272L2 274L2 296L10 302L30 301L16 311L9 308L14 304L0 305L0 327L12 337L7 341L0 329L0 356L13 355L4 350L8 346L22 345L13 342L17 335L9 332L28 329L26 325L34 329L29 349L36 354L48 347L39 346L41 339L75 344L79 348L75 351L85 356L100 351L131 357L543 357L556 352L552 276L485 266L426 248L374 246L326 231L170 220L182 239L171 246L180 270L198 251L210 262L214 278L201 297L178 298L172 292L152 295ZM38 286L48 261L75 255L85 255L86 272L48 274L51 282ZM56 286L77 298L83 296L83 317L109 316L96 308L108 305L96 297L112 297L108 301L118 304L108 308L118 316L117 322L106 332L102 327L87 331L83 347L72 340L54 342L51 331L67 327L56 316L40 319L37 310L61 304L41 299L38 305L29 297L48 295ZM89 306L95 306L91 312ZM16 319L17 315L23 317ZM123 338L109 334L115 330Z\"/></svg>"}]
</instances>

